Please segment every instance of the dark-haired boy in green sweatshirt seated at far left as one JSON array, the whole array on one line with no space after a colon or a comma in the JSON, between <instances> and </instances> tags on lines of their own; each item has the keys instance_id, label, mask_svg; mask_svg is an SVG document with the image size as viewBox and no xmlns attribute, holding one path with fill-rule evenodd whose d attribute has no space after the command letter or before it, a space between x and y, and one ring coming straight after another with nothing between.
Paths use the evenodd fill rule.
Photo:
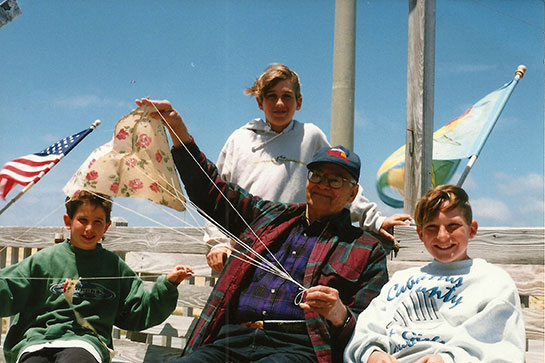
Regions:
<instances>
[{"instance_id":1,"label":"dark-haired boy in green sweatshirt seated at far left","mask_svg":"<svg viewBox=\"0 0 545 363\"><path fill-rule=\"evenodd\" d=\"M68 198L67 198L68 199ZM18 314L4 342L10 362L109 362L112 327L143 330L175 309L178 265L151 291L99 241L111 224L109 197L81 191L67 200L70 239L0 271L0 316Z\"/></svg>"}]
</instances>

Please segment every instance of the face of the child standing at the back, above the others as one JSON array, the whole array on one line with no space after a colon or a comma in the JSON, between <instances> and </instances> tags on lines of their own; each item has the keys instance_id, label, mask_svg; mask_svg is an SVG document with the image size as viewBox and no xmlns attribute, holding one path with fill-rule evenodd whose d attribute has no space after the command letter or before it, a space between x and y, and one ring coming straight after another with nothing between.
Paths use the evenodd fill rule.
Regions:
<instances>
[{"instance_id":1,"label":"face of the child standing at the back, above the others","mask_svg":"<svg viewBox=\"0 0 545 363\"><path fill-rule=\"evenodd\" d=\"M271 87L261 99L257 98L260 110L265 113L267 122L276 132L289 125L295 111L301 108L302 98L297 99L290 80L281 80Z\"/></svg>"}]
</instances>

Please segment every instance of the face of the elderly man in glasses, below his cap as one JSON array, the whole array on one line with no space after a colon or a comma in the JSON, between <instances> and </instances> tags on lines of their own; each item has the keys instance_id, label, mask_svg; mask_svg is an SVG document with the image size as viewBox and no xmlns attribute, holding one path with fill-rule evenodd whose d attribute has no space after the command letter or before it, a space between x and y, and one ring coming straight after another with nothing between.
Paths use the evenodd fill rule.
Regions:
<instances>
[{"instance_id":1,"label":"face of the elderly man in glasses, below his cap","mask_svg":"<svg viewBox=\"0 0 545 363\"><path fill-rule=\"evenodd\" d=\"M313 167L313 170L324 175L341 176L348 180L354 178L342 166L323 163ZM307 180L307 218L309 221L323 219L335 215L343 210L346 203L350 203L358 193L358 185L344 181L341 188L331 188L325 180L320 183L312 183Z\"/></svg>"}]
</instances>

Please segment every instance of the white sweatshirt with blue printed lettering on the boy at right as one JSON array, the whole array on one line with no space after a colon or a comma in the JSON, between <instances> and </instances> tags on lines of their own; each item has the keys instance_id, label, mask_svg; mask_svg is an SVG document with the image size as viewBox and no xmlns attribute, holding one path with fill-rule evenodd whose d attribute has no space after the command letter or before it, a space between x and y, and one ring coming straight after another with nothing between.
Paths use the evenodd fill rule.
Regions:
<instances>
[{"instance_id":1,"label":"white sweatshirt with blue printed lettering on the boy at right","mask_svg":"<svg viewBox=\"0 0 545 363\"><path fill-rule=\"evenodd\" d=\"M400 363L427 354L457 363L524 362L515 283L482 259L398 271L359 315L344 361L367 362L374 350Z\"/></svg>"}]
</instances>

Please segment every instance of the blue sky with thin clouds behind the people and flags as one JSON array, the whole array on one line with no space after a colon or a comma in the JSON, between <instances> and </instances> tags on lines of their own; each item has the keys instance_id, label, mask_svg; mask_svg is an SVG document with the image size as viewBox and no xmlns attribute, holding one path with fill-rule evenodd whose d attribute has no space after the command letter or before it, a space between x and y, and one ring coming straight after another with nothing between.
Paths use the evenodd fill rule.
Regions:
<instances>
[{"instance_id":1,"label":"blue sky with thin clouds behind the people and flags","mask_svg":"<svg viewBox=\"0 0 545 363\"><path fill-rule=\"evenodd\" d=\"M261 117L245 96L273 62L296 70L295 114L330 134L333 0L31 1L0 28L0 164L102 125L0 216L0 225L62 225L62 187L112 138L136 98L169 99L210 159ZM528 67L464 184L481 226L543 226L544 2L437 0L435 127ZM354 149L365 195L405 143L408 0L357 3ZM8 200L20 190L17 187ZM146 200L118 203L167 225ZM6 202L0 201L0 207ZM155 225L114 206L130 225ZM181 218L186 218L180 215Z\"/></svg>"}]
</instances>

